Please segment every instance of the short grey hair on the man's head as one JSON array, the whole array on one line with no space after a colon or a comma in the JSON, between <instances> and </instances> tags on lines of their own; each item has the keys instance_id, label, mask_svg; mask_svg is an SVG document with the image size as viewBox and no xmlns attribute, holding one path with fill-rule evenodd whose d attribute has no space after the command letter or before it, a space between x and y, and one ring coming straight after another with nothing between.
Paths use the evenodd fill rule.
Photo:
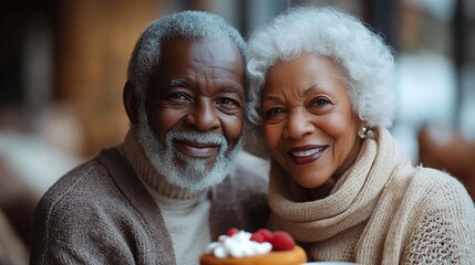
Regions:
<instances>
[{"instance_id":1,"label":"short grey hair on the man's head","mask_svg":"<svg viewBox=\"0 0 475 265\"><path fill-rule=\"evenodd\" d=\"M152 72L159 64L163 40L184 38L189 40L230 40L245 57L246 43L240 33L221 17L205 11L182 11L159 18L149 23L132 52L127 80L135 87L141 100Z\"/></svg>"}]
</instances>

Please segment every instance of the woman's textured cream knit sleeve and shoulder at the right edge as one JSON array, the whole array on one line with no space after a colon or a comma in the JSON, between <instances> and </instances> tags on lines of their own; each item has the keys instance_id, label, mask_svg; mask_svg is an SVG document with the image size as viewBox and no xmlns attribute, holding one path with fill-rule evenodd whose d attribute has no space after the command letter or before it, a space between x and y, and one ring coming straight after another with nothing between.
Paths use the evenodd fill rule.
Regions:
<instances>
[{"instance_id":1,"label":"woman's textured cream knit sleeve and shoulder at the right edge","mask_svg":"<svg viewBox=\"0 0 475 265\"><path fill-rule=\"evenodd\" d=\"M399 221L406 227L403 259L456 261L474 258L475 208L464 186L453 176L422 166L414 169L401 192Z\"/></svg>"}]
</instances>

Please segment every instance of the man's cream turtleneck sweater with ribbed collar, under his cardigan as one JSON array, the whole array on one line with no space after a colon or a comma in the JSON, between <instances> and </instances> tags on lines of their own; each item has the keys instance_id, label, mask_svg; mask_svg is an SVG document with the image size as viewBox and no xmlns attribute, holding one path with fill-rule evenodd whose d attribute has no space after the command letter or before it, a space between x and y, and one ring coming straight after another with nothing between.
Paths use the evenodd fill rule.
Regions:
<instances>
[{"instance_id":1,"label":"man's cream turtleneck sweater with ribbed collar, under his cardigan","mask_svg":"<svg viewBox=\"0 0 475 265\"><path fill-rule=\"evenodd\" d=\"M192 192L165 180L152 167L130 131L121 148L162 211L173 242L176 264L194 264L211 242L209 191Z\"/></svg>"}]
</instances>

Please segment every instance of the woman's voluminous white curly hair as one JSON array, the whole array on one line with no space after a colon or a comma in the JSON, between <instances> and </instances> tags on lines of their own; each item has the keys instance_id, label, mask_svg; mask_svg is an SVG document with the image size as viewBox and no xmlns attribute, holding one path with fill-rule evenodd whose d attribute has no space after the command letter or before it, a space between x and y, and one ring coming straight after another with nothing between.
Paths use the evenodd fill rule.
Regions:
<instances>
[{"instance_id":1,"label":"woman's voluminous white curly hair","mask_svg":"<svg viewBox=\"0 0 475 265\"><path fill-rule=\"evenodd\" d=\"M278 60L301 53L333 60L347 84L353 112L365 126L392 125L395 113L395 64L392 49L361 20L333 8L298 7L276 17L248 41L247 114L261 123L260 94L266 73Z\"/></svg>"}]
</instances>

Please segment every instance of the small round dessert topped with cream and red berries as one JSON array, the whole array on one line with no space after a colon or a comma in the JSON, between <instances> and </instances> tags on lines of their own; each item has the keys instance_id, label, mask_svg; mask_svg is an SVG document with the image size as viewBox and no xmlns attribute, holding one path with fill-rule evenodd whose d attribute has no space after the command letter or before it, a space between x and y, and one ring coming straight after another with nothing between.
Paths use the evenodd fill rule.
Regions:
<instances>
[{"instance_id":1,"label":"small round dessert topped with cream and red berries","mask_svg":"<svg viewBox=\"0 0 475 265\"><path fill-rule=\"evenodd\" d=\"M296 265L307 262L304 251L285 231L258 230L249 233L230 229L208 245L200 265L275 264Z\"/></svg>"}]
</instances>

